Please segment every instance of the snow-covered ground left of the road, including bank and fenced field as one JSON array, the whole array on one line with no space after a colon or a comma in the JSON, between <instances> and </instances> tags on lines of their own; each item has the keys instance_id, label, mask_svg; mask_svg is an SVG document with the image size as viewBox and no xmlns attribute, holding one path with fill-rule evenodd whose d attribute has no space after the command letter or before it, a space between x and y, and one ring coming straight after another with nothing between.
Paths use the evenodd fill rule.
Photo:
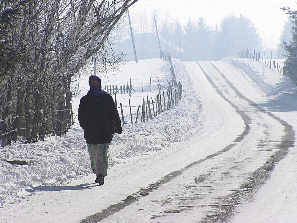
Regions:
<instances>
[{"instance_id":1,"label":"snow-covered ground left of the road, including bank and fenced field","mask_svg":"<svg viewBox=\"0 0 297 223\"><path fill-rule=\"evenodd\" d=\"M123 133L114 134L110 145L110 167L133 156L149 153L151 150L165 150L171 143L181 141L187 135L192 134L194 131L192 129L199 124L198 117L202 108L194 95L184 65L175 59L173 67L176 79L183 84L181 101L149 122L123 125ZM152 73L152 92L146 80L144 85L146 92L132 94L133 105L141 104L145 95L152 97L158 94L157 77L163 86L167 86L166 79L171 79L170 64L161 59L143 60L138 64L130 62L122 68L121 72L121 75L109 76L110 82L114 78L116 80L114 84L123 85L126 77L131 77L132 84L134 83L132 86L138 90L142 82L149 78L149 73ZM138 82L135 83L135 80ZM103 83L105 81L102 78L102 86L104 86ZM87 78L81 80L80 90L80 95L73 98L72 103L76 113L80 98L88 90ZM128 97L127 94L118 95L118 104L121 102L123 106L127 106ZM25 160L30 164L12 165L4 159ZM21 198L39 192L41 186L67 184L70 180L87 174L91 174L89 154L83 138L83 130L79 125L70 129L63 137L48 137L45 141L35 144L16 142L1 148L0 207L3 208L7 203L16 203Z\"/></svg>"}]
</instances>

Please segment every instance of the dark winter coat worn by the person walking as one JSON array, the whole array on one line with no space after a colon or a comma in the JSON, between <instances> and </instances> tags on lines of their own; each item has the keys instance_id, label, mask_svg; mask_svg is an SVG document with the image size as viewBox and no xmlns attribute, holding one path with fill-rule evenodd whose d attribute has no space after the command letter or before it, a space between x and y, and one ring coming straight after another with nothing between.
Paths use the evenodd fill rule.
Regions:
<instances>
[{"instance_id":1,"label":"dark winter coat worn by the person walking","mask_svg":"<svg viewBox=\"0 0 297 223\"><path fill-rule=\"evenodd\" d=\"M80 99L78 121L83 128L88 144L110 143L112 140L111 119L121 133L121 120L113 98L107 92L99 96L85 95Z\"/></svg>"}]
</instances>

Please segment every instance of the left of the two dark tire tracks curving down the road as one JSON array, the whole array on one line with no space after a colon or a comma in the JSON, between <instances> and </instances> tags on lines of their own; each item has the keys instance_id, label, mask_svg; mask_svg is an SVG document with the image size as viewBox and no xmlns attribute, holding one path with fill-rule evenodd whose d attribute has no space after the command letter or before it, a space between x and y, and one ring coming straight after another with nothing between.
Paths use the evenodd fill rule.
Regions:
<instances>
[{"instance_id":1,"label":"left of the two dark tire tracks curving down the road","mask_svg":"<svg viewBox=\"0 0 297 223\"><path fill-rule=\"evenodd\" d=\"M199 65L199 64L198 64ZM200 65L199 65L200 66ZM201 68L202 69L202 68ZM202 69L203 70L203 69ZM177 176L181 175L184 171L186 171L187 169L200 164L203 161L206 161L208 159L214 158L222 153L227 152L228 150L232 149L238 142L241 142L245 136L247 136L247 134L250 131L250 124L251 124L251 117L249 117L249 115L245 112L242 112L235 104L233 104L230 100L228 100L228 98L226 98L223 93L215 86L214 82L211 80L211 78L209 76L207 76L206 74L206 78L208 77L208 81L211 82L212 86L217 90L218 94L224 98L234 109L236 109L236 112L241 116L241 118L244 120L245 123L245 128L244 131L228 146L226 146L225 148L223 148L222 150L213 153L209 156L206 156L203 159L200 159L198 161L192 162L189 165L187 165L186 167L176 170L174 172L169 173L168 175L164 176L162 179L157 180L153 183L150 183L147 187L140 189L138 192L128 196L125 200L118 202L116 204L110 205L108 208L99 211L98 213L95 213L94 215L88 216L84 219L82 219L80 221L80 223L96 223L99 222L105 218L107 218L108 216L121 211L122 209L124 209L125 207L127 207L128 205L140 200L141 198L149 195L151 192L158 190L162 185L165 185L166 183L170 182L171 180L173 180L174 178L176 178Z\"/></svg>"}]
</instances>

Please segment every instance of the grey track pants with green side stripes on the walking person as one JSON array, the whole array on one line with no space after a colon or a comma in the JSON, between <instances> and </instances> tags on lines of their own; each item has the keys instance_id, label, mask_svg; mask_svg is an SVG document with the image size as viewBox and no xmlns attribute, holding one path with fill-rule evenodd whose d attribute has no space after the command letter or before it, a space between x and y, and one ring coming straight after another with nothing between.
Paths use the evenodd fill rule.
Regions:
<instances>
[{"instance_id":1,"label":"grey track pants with green side stripes on the walking person","mask_svg":"<svg viewBox=\"0 0 297 223\"><path fill-rule=\"evenodd\" d=\"M107 175L108 168L108 148L110 143L97 144L97 145L88 145L88 152L91 157L91 167L94 174L102 174L103 176Z\"/></svg>"}]
</instances>

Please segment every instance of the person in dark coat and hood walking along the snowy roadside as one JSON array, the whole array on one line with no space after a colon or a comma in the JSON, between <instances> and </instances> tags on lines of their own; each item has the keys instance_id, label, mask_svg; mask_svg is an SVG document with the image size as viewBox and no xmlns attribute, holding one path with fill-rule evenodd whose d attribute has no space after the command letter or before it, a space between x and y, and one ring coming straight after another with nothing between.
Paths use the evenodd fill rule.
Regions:
<instances>
[{"instance_id":1,"label":"person in dark coat and hood walking along the snowy roadside","mask_svg":"<svg viewBox=\"0 0 297 223\"><path fill-rule=\"evenodd\" d=\"M104 184L107 176L108 148L113 133L122 133L119 112L111 95L102 90L98 76L89 77L90 90L80 99L78 121L83 128L95 183Z\"/></svg>"}]
</instances>

